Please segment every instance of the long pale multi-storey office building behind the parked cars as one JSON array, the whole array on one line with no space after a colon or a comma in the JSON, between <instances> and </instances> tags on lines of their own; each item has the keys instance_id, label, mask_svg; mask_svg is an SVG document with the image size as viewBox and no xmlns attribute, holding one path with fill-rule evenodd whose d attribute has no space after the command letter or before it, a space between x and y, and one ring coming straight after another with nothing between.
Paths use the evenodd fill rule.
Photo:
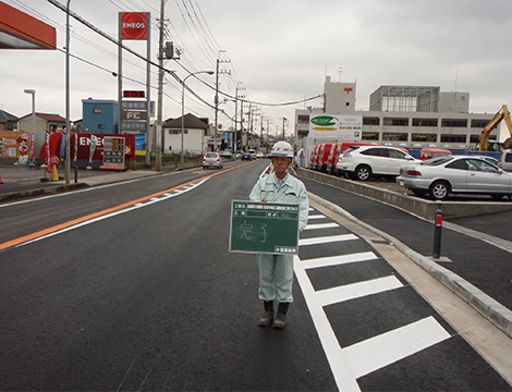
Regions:
<instances>
[{"instance_id":1,"label":"long pale multi-storey office building behind the parked cars","mask_svg":"<svg viewBox=\"0 0 512 392\"><path fill-rule=\"evenodd\" d=\"M476 147L481 130L493 117L471 113L470 93L442 93L440 87L380 86L369 97L368 111L355 109L355 83L333 83L327 76L324 106L295 110L296 149L305 148L309 118L318 114L363 117L362 142L462 150ZM496 140L498 135L496 131L489 139ZM317 143L322 140L313 144Z\"/></svg>"}]
</instances>

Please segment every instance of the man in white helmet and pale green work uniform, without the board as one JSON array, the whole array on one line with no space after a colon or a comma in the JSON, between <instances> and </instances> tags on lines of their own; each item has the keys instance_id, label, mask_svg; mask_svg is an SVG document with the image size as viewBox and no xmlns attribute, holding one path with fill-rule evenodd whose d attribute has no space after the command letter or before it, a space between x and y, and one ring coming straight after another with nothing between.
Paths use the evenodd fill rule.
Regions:
<instances>
[{"instance_id":1,"label":"man in white helmet and pale green work uniform, without the board","mask_svg":"<svg viewBox=\"0 0 512 392\"><path fill-rule=\"evenodd\" d=\"M288 173L292 163L293 149L287 142L278 142L270 152L273 172L258 180L251 192L253 201L293 203L300 205L300 234L306 228L309 201L304 184ZM264 301L265 313L259 326L284 328L287 311L293 302L293 255L258 254L259 298ZM273 301L278 302L275 318ZM273 323L272 323L273 321Z\"/></svg>"}]
</instances>

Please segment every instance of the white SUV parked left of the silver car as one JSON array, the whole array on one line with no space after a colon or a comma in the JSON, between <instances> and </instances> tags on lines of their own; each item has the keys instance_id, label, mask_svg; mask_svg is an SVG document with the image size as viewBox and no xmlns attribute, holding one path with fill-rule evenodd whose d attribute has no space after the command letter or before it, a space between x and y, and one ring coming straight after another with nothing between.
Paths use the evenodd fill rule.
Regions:
<instances>
[{"instance_id":1,"label":"white SUV parked left of the silver car","mask_svg":"<svg viewBox=\"0 0 512 392\"><path fill-rule=\"evenodd\" d=\"M400 168L411 161L415 159L400 148L354 146L340 156L337 170L361 181L371 176L395 177L400 174Z\"/></svg>"}]
</instances>

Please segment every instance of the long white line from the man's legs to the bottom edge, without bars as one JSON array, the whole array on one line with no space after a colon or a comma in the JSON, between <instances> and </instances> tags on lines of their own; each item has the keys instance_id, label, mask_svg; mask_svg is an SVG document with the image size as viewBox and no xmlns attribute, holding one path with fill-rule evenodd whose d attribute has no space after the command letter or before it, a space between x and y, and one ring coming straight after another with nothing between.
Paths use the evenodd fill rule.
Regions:
<instances>
[{"instance_id":1,"label":"long white line from the man's legs to the bottom edge, without bars","mask_svg":"<svg viewBox=\"0 0 512 392\"><path fill-rule=\"evenodd\" d=\"M359 385L352 371L350 358L343 353L340 343L332 331L332 327L327 319L326 313L318 302L312 282L307 277L306 270L302 267L298 256L294 256L295 275L301 290L306 299L307 308L312 315L313 322L320 339L321 346L327 356L327 362L334 377L336 384L339 391L352 392L361 391Z\"/></svg>"}]
</instances>

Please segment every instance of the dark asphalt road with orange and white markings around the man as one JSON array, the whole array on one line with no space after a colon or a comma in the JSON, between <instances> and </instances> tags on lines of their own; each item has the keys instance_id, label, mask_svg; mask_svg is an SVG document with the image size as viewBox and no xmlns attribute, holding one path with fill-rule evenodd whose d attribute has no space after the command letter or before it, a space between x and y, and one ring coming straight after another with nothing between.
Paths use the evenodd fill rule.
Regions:
<instances>
[{"instance_id":1,"label":"dark asphalt road with orange and white markings around the man","mask_svg":"<svg viewBox=\"0 0 512 392\"><path fill-rule=\"evenodd\" d=\"M229 217L266 163L0 207L0 390L512 390L315 209L289 326L258 327L255 256L228 252Z\"/></svg>"}]
</instances>

